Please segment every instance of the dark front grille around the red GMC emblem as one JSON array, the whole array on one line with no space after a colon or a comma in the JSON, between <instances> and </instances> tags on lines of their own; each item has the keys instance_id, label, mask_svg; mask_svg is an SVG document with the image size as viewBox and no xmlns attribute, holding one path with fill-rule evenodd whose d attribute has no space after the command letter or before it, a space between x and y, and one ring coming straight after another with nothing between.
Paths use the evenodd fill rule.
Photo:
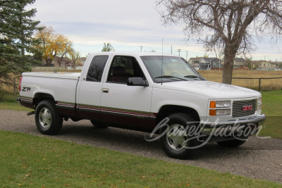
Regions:
<instances>
[{"instance_id":1,"label":"dark front grille around the red GMC emblem","mask_svg":"<svg viewBox=\"0 0 282 188\"><path fill-rule=\"evenodd\" d=\"M243 106L252 105L252 110L243 111ZM250 101L233 101L233 118L244 117L248 115L254 115L257 109L257 99Z\"/></svg>"}]
</instances>

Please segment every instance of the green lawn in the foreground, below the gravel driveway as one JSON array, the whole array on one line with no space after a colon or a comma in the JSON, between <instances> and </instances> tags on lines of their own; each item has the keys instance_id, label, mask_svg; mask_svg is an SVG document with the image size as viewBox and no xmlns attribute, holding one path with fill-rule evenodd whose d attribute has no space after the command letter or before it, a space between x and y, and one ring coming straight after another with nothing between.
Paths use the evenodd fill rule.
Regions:
<instances>
[{"instance_id":1,"label":"green lawn in the foreground, below the gravel driveway","mask_svg":"<svg viewBox=\"0 0 282 188\"><path fill-rule=\"evenodd\" d=\"M0 187L281 187L30 134L0 130Z\"/></svg>"}]
</instances>

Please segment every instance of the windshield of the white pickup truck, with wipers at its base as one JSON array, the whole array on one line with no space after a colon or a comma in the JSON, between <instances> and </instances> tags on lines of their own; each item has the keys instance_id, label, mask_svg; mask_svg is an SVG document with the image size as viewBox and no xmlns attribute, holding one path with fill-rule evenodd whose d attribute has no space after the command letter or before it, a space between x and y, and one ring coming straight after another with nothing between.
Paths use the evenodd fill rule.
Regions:
<instances>
[{"instance_id":1,"label":"windshield of the white pickup truck, with wipers at its base","mask_svg":"<svg viewBox=\"0 0 282 188\"><path fill-rule=\"evenodd\" d=\"M154 82L204 80L183 58L173 56L142 56L140 58L145 63Z\"/></svg>"}]
</instances>

